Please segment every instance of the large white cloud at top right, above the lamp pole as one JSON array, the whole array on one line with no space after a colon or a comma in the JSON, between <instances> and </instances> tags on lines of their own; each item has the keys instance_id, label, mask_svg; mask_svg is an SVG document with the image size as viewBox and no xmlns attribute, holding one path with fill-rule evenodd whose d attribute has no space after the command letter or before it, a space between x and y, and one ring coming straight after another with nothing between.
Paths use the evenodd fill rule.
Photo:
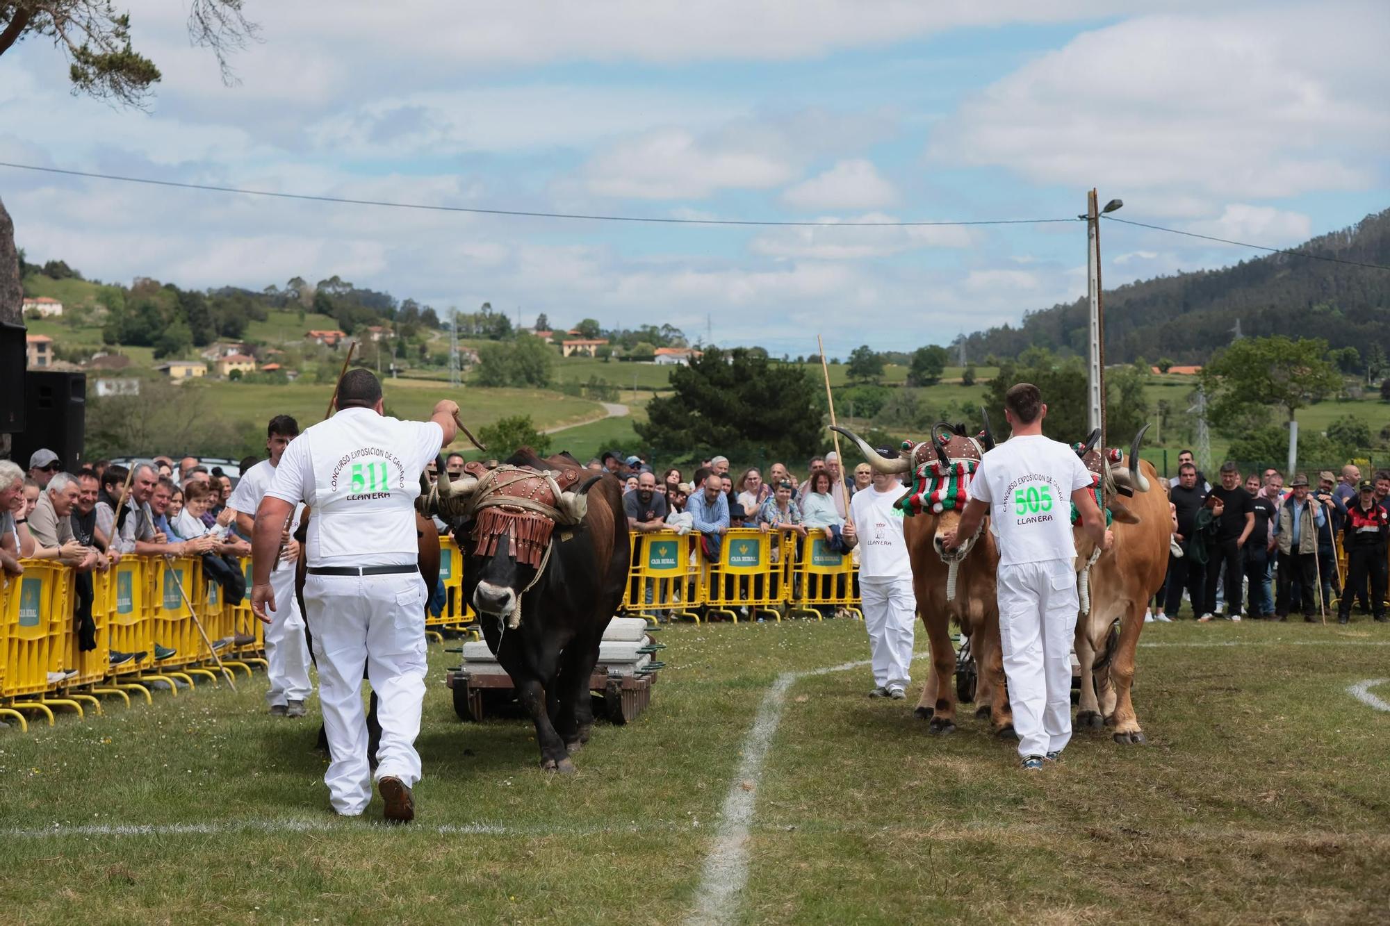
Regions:
<instances>
[{"instance_id":1,"label":"large white cloud at top right, above the lamp pole","mask_svg":"<svg viewBox=\"0 0 1390 926\"><path fill-rule=\"evenodd\" d=\"M1366 3L1130 19L969 99L930 156L1098 185L1145 214L1359 189L1390 139L1387 44L1390 17Z\"/></svg>"}]
</instances>

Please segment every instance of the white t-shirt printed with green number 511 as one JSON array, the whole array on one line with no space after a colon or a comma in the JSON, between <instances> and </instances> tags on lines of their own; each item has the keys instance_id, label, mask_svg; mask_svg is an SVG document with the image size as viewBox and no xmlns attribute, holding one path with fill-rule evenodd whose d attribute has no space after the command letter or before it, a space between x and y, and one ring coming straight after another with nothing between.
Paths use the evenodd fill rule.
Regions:
<instances>
[{"instance_id":1,"label":"white t-shirt printed with green number 511","mask_svg":"<svg viewBox=\"0 0 1390 926\"><path fill-rule=\"evenodd\" d=\"M310 566L410 564L420 471L442 445L434 421L343 409L291 441L265 494L309 503Z\"/></svg>"}]
</instances>

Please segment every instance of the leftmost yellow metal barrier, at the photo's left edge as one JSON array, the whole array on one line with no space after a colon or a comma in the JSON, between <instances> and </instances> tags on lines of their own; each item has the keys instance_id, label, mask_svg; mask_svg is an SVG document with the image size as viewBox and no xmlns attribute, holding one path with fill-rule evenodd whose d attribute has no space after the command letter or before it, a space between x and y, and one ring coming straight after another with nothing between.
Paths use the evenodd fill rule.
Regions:
<instances>
[{"instance_id":1,"label":"leftmost yellow metal barrier, at the photo's left edge","mask_svg":"<svg viewBox=\"0 0 1390 926\"><path fill-rule=\"evenodd\" d=\"M72 609L63 587L71 584L72 570L50 559L25 559L21 563L24 574L7 580L4 612L0 613L4 626L0 634L4 642L0 705L7 716L18 710L38 710L53 726L50 708L72 708L82 716L82 705L72 698L49 697L65 680L64 631L72 620ZM26 723L21 726L28 729Z\"/></svg>"}]
</instances>

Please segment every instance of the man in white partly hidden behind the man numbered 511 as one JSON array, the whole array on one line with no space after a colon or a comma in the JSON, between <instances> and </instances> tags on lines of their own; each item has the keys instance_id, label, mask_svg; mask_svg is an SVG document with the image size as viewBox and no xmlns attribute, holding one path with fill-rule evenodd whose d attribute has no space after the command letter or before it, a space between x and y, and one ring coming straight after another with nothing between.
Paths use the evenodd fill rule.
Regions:
<instances>
[{"instance_id":1,"label":"man in white partly hidden behind the man numbered 511","mask_svg":"<svg viewBox=\"0 0 1390 926\"><path fill-rule=\"evenodd\" d=\"M265 427L265 449L268 460L261 460L242 473L227 507L236 512L236 530L246 537L254 533L256 509L275 478L275 467L289 442L299 437L299 423L288 414L277 414ZM295 598L295 563L299 560L299 542L293 533L299 530L303 505L295 506L295 516L284 534L284 553L271 566L270 584L275 592L278 608L268 612L271 619L265 627L265 677L270 691L265 704L277 717L304 716L304 701L313 694L309 683L309 641L304 638L304 616L299 613L299 599Z\"/></svg>"}]
</instances>

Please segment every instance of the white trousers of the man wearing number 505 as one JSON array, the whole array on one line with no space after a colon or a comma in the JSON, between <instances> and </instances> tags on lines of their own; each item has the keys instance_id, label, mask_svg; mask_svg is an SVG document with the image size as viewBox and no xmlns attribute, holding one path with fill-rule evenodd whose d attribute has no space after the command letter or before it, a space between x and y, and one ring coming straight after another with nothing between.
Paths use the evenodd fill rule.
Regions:
<instances>
[{"instance_id":1,"label":"white trousers of the man wearing number 505","mask_svg":"<svg viewBox=\"0 0 1390 926\"><path fill-rule=\"evenodd\" d=\"M999 644L1019 755L1061 751L1072 740L1076 571L1070 559L999 566Z\"/></svg>"}]
</instances>

